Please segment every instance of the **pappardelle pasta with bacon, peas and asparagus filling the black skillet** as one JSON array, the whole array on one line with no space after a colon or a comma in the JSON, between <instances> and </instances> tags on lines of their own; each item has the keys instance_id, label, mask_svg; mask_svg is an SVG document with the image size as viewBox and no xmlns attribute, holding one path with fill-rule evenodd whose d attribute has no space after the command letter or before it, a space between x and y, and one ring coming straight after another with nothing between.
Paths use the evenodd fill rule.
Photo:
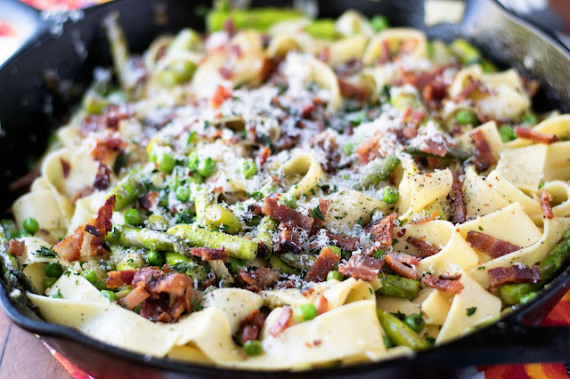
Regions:
<instances>
[{"instance_id":1,"label":"pappardelle pasta with bacon, peas and asparagus filling the black skillet","mask_svg":"<svg viewBox=\"0 0 570 379\"><path fill-rule=\"evenodd\" d=\"M389 359L485 327L570 257L570 117L465 40L215 9L94 83L2 222L13 296L155 357Z\"/></svg>"}]
</instances>

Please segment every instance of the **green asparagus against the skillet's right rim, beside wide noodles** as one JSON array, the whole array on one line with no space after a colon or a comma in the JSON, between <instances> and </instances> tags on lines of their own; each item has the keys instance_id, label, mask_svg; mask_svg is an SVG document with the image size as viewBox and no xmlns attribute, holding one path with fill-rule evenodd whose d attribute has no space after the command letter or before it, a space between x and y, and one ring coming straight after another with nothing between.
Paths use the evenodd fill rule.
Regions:
<instances>
[{"instance_id":1,"label":"green asparagus against the skillet's right rim, beside wide noodles","mask_svg":"<svg viewBox=\"0 0 570 379\"><path fill-rule=\"evenodd\" d=\"M539 283L517 283L499 287L499 297L507 305L517 304L525 296L533 291L538 291L546 285L555 274L570 259L570 230L562 236L550 254L539 264L542 280Z\"/></svg>"}]
</instances>

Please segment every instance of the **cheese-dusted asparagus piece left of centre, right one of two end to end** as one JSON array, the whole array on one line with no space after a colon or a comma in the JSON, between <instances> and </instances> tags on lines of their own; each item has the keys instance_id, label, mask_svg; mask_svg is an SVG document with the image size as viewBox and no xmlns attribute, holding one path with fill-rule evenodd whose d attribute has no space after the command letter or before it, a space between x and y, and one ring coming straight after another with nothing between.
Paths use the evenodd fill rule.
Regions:
<instances>
[{"instance_id":1,"label":"cheese-dusted asparagus piece left of centre, right one of two end to end","mask_svg":"<svg viewBox=\"0 0 570 379\"><path fill-rule=\"evenodd\" d=\"M175 225L168 230L168 234L183 238L190 246L204 246L210 248L224 247L234 258L251 260L256 258L257 243L246 238L240 238L215 230L199 229L192 225Z\"/></svg>"}]
</instances>

